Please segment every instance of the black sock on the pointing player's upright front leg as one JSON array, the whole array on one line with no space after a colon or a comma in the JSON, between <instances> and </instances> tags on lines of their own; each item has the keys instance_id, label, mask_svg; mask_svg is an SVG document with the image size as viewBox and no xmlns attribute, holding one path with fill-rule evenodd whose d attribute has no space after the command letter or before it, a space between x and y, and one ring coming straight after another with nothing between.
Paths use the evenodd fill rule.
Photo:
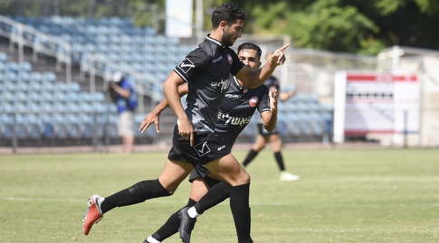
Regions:
<instances>
[{"instance_id":1,"label":"black sock on the pointing player's upright front leg","mask_svg":"<svg viewBox=\"0 0 439 243\"><path fill-rule=\"evenodd\" d=\"M234 215L234 227L239 243L253 243L250 237L250 183L233 186L230 190L230 209Z\"/></svg>"}]
</instances>

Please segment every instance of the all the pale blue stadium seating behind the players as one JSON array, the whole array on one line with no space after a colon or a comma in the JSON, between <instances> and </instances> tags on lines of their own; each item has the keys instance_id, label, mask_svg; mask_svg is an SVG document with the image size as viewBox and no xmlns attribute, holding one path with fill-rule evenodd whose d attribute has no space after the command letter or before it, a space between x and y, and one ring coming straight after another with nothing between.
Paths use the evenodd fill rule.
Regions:
<instances>
[{"instance_id":1,"label":"all the pale blue stadium seating behind the players","mask_svg":"<svg viewBox=\"0 0 439 243\"><path fill-rule=\"evenodd\" d=\"M161 84L169 71L194 48L180 44L177 38L158 35L152 28L135 27L125 18L14 16L12 19L69 42L72 62L76 66L87 66L87 61L94 55L126 70L148 75L149 81L140 85L151 93L162 93ZM14 33L16 30L5 27L2 31ZM34 36L28 38L30 42L47 45ZM108 77L114 71L107 67L101 70ZM14 131L18 138L31 140L117 137L117 113L102 90L83 91L79 82L58 81L56 73L35 71L29 61L9 61L5 52L0 52L0 77L2 140L11 139ZM321 137L330 133L327 124L332 120L331 107L321 105L313 96L296 95L279 102L279 109L278 127L283 136ZM144 116L141 110L136 114L135 122L141 123ZM175 120L170 123L174 124ZM163 127L167 126L162 126L161 130ZM253 138L255 129L254 125L247 126L243 136ZM147 135L137 133L136 136L156 135L154 129L149 129Z\"/></svg>"}]
</instances>

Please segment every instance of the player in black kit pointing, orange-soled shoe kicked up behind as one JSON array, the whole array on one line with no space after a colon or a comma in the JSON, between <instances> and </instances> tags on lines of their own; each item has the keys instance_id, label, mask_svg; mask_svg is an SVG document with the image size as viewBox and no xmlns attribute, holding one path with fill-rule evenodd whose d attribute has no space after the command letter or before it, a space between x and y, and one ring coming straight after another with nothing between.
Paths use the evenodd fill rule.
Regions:
<instances>
[{"instance_id":1,"label":"player in black kit pointing, orange-soled shoe kicked up behind","mask_svg":"<svg viewBox=\"0 0 439 243\"><path fill-rule=\"evenodd\" d=\"M167 103L177 115L177 125L162 173L155 180L137 182L106 198L91 196L83 219L85 235L109 210L172 195L193 168L203 164L213 176L231 185L230 207L238 242L253 242L250 236L250 175L231 154L231 148L215 136L215 122L225 91L231 83L229 75L242 80L250 89L262 85L272 71L284 63L283 51L289 44L274 51L271 60L261 69L251 70L229 48L241 37L245 18L243 10L233 3L215 8L210 34L196 50L187 54L163 83ZM188 87L186 110L178 93L178 87L184 83ZM181 232L180 235L184 236ZM190 238L182 239L190 242Z\"/></svg>"}]
</instances>

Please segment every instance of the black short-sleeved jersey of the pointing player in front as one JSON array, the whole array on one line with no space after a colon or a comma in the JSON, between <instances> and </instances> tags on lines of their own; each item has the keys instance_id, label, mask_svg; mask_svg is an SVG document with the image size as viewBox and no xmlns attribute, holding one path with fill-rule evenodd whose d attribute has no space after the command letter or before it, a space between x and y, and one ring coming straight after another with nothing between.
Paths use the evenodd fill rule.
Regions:
<instances>
[{"instance_id":1,"label":"black short-sleeved jersey of the pointing player in front","mask_svg":"<svg viewBox=\"0 0 439 243\"><path fill-rule=\"evenodd\" d=\"M229 75L242 68L243 62L232 49L207 35L174 69L187 82L186 114L195 132L214 132L221 101L230 86Z\"/></svg>"}]
</instances>

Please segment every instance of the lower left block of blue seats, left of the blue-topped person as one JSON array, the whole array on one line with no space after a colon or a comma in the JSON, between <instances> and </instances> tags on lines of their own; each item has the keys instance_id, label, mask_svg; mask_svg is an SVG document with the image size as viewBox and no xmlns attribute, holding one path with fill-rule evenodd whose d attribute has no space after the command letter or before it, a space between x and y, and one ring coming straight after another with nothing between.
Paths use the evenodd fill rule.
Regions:
<instances>
[{"instance_id":1,"label":"lower left block of blue seats, left of the blue-topped person","mask_svg":"<svg viewBox=\"0 0 439 243\"><path fill-rule=\"evenodd\" d=\"M2 139L12 139L14 131L20 139L90 138L94 114L105 115L104 123L117 117L102 93L83 92L78 82L57 82L55 73L9 61L5 52L0 52L0 63Z\"/></svg>"}]
</instances>

